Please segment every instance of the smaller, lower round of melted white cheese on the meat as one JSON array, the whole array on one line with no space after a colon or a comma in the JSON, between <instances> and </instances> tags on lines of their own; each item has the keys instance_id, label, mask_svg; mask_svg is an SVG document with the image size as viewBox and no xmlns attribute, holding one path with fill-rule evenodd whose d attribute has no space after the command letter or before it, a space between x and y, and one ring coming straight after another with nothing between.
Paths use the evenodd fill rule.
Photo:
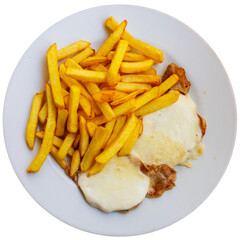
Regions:
<instances>
[{"instance_id":1,"label":"smaller, lower round of melted white cheese on the meat","mask_svg":"<svg viewBox=\"0 0 240 240\"><path fill-rule=\"evenodd\" d=\"M104 212L128 210L143 201L149 177L128 157L113 157L104 169L91 177L82 173L78 185L88 203Z\"/></svg>"}]
</instances>

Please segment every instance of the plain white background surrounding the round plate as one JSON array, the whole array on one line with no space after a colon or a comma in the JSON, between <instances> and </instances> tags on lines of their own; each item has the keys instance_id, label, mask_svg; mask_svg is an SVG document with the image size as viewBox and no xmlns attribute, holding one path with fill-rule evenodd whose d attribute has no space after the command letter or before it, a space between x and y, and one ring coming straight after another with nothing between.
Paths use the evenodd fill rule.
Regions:
<instances>
[{"instance_id":1,"label":"plain white background surrounding the round plate","mask_svg":"<svg viewBox=\"0 0 240 240\"><path fill-rule=\"evenodd\" d=\"M112 237L89 234L66 225L43 210L30 197L15 176L7 156L2 131L2 107L15 66L29 45L43 31L77 11L119 3L160 10L174 16L199 33L221 59L232 82L237 105L240 104L240 8L238 0L15 0L2 2L0 8L1 239L112 239ZM131 239L239 239L239 143L240 139L237 136L232 159L223 179L197 210L165 229L131 237Z\"/></svg>"}]
</instances>

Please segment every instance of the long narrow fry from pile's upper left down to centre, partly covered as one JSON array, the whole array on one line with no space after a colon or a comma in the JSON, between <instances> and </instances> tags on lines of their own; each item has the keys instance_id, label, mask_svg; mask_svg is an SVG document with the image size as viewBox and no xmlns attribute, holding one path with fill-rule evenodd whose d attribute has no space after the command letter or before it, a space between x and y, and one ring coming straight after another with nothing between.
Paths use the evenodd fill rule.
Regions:
<instances>
[{"instance_id":1,"label":"long narrow fry from pile's upper left down to centre, partly covered","mask_svg":"<svg viewBox=\"0 0 240 240\"><path fill-rule=\"evenodd\" d=\"M98 108L97 104L94 102L94 100L92 99L91 95L88 93L88 91L85 89L85 87L80 83L78 82L77 80L71 78L71 77L68 77L65 72L66 72L66 67L63 63L60 64L60 67L59 67L59 72L60 72L60 76L61 78L63 79L63 81L69 86L77 86L80 88L81 90L81 94L84 95L88 101L91 103L92 105L92 108L94 110L94 112L96 113L96 115L99 115L101 113L100 109Z\"/></svg>"}]
</instances>

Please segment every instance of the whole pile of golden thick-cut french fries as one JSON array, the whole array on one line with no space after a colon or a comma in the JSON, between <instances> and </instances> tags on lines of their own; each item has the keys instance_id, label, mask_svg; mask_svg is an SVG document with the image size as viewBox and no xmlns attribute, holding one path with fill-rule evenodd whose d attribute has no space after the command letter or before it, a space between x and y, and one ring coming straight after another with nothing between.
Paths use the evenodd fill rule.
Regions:
<instances>
[{"instance_id":1,"label":"whole pile of golden thick-cut french fries","mask_svg":"<svg viewBox=\"0 0 240 240\"><path fill-rule=\"evenodd\" d=\"M130 35L126 20L118 24L109 17L105 25L112 34L96 53L86 41L48 49L50 84L34 96L26 131L31 150L35 136L42 144L28 172L39 171L50 153L70 177L94 175L115 154L131 152L143 115L178 100L178 91L168 91L178 76L161 83L152 67L163 61L162 51Z\"/></svg>"}]
</instances>

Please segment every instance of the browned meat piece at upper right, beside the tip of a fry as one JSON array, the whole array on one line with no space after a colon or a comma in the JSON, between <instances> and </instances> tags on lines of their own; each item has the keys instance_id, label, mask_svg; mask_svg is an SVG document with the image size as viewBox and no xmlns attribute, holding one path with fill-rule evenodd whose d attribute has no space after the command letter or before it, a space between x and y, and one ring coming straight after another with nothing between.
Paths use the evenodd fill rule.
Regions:
<instances>
[{"instance_id":1,"label":"browned meat piece at upper right, beside the tip of a fry","mask_svg":"<svg viewBox=\"0 0 240 240\"><path fill-rule=\"evenodd\" d=\"M164 82L172 74L177 74L179 80L171 87L171 90L178 90L182 94L186 95L189 92L191 83L186 78L185 70L181 67L178 67L175 63L169 64L165 73L163 74L162 82Z\"/></svg>"}]
</instances>

